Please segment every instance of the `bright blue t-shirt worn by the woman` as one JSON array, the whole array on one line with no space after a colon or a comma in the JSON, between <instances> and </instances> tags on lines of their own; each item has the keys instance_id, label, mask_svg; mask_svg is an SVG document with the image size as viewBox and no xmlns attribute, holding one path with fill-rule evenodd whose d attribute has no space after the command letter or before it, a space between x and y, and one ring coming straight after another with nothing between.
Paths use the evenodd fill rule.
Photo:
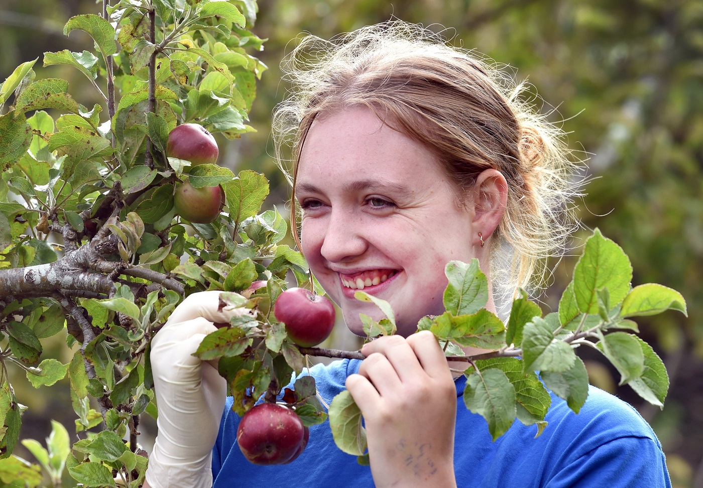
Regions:
<instances>
[{"instance_id":1,"label":"bright blue t-shirt worn by the woman","mask_svg":"<svg viewBox=\"0 0 703 488\"><path fill-rule=\"evenodd\" d=\"M327 403L344 390L359 360L344 359L311 368ZM671 487L664 453L649 425L630 405L591 387L576 415L552 394L549 425L534 438L536 426L516 420L496 442L486 421L463 404L465 378L456 382L457 411L454 470L459 488L492 487ZM329 423L310 428L307 448L285 465L259 466L247 461L237 445L240 417L228 398L212 459L214 488L264 487L275 480L298 487L373 487L368 466L335 445ZM438 487L439 488L439 487Z\"/></svg>"}]
</instances>

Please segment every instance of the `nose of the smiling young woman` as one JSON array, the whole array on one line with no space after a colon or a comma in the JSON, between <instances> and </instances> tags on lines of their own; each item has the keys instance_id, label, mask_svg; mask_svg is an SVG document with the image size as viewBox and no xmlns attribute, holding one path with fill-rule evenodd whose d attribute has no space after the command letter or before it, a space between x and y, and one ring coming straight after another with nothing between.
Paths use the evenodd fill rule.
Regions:
<instances>
[{"instance_id":1,"label":"nose of the smiling young woman","mask_svg":"<svg viewBox=\"0 0 703 488\"><path fill-rule=\"evenodd\" d=\"M347 262L363 255L368 247L363 237L363 223L354 212L335 209L330 212L321 247L329 262Z\"/></svg>"}]
</instances>

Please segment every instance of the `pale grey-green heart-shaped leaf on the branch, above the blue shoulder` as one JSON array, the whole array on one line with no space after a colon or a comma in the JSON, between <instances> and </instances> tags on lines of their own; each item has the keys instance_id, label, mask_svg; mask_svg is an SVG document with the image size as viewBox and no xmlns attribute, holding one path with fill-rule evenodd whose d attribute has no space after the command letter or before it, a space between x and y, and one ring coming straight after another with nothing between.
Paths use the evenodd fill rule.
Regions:
<instances>
[{"instance_id":1,"label":"pale grey-green heart-shaped leaf on the branch, above the blue shoulder","mask_svg":"<svg viewBox=\"0 0 703 488\"><path fill-rule=\"evenodd\" d=\"M524 371L569 371L576 361L574 349L554 337L554 326L539 317L527 323L522 331Z\"/></svg>"}]
</instances>

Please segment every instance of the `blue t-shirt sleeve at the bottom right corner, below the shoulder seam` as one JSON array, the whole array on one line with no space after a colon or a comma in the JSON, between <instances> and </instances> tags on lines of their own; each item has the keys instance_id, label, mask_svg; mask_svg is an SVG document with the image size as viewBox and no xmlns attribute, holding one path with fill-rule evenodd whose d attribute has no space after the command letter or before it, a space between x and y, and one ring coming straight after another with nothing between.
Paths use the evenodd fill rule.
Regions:
<instances>
[{"instance_id":1,"label":"blue t-shirt sleeve at the bottom right corner, below the shoulder seam","mask_svg":"<svg viewBox=\"0 0 703 488\"><path fill-rule=\"evenodd\" d=\"M664 453L650 437L620 437L566 465L546 488L671 488Z\"/></svg>"}]
</instances>

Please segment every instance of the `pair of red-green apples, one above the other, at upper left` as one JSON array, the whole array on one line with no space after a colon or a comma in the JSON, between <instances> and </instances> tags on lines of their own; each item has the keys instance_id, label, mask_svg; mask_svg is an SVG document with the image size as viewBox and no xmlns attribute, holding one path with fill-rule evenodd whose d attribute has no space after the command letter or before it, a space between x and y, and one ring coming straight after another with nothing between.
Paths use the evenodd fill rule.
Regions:
<instances>
[{"instance_id":1,"label":"pair of red-green apples, one above the other, at upper left","mask_svg":"<svg viewBox=\"0 0 703 488\"><path fill-rule=\"evenodd\" d=\"M200 124L181 124L169 132L166 145L169 158L191 162L191 167L217 162L219 149L214 136ZM176 214L193 224L207 224L217 219L224 205L221 186L195 188L188 181L176 185Z\"/></svg>"}]
</instances>

